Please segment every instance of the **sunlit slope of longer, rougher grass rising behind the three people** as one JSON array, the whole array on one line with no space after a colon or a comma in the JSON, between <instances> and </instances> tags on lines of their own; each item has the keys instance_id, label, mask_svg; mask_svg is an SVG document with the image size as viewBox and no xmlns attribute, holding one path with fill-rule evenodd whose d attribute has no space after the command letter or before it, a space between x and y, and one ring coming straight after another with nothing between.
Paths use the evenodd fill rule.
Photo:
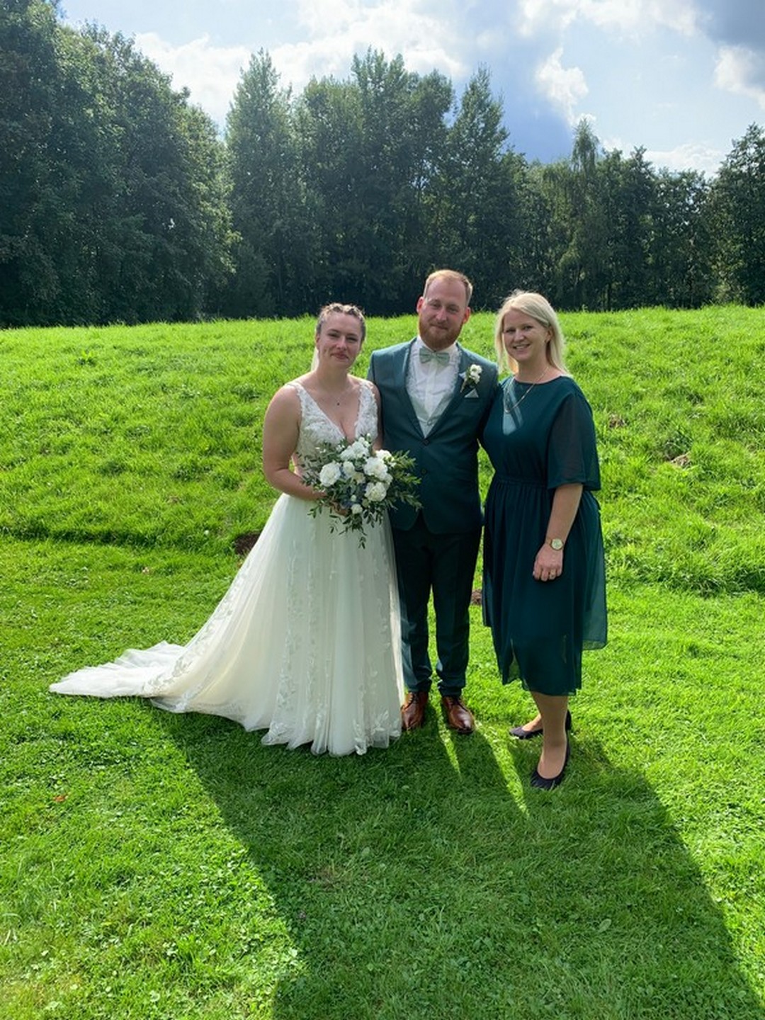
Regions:
<instances>
[{"instance_id":1,"label":"sunlit slope of longer, rougher grass rising behind the three people","mask_svg":"<svg viewBox=\"0 0 765 1020\"><path fill-rule=\"evenodd\" d=\"M758 309L563 317L595 412L612 579L765 591L765 329ZM492 353L492 317L464 342ZM413 317L372 319L369 352ZM268 399L310 362L312 323L0 334L0 531L224 550L257 530ZM488 468L487 468L488 477Z\"/></svg>"}]
</instances>

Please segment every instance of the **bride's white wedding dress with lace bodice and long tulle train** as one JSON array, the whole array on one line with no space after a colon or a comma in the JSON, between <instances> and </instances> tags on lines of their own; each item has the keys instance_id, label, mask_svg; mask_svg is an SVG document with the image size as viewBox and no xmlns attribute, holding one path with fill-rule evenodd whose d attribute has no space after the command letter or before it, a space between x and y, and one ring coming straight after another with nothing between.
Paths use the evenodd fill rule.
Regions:
<instances>
[{"instance_id":1,"label":"bride's white wedding dress with lace bodice and long tulle train","mask_svg":"<svg viewBox=\"0 0 765 1020\"><path fill-rule=\"evenodd\" d=\"M299 384L296 456L339 443L340 428ZM360 394L355 437L376 435L369 384ZM388 520L329 530L325 510L282 495L262 533L212 616L186 646L162 642L115 662L69 673L64 695L150 698L170 712L206 712L266 729L264 744L315 754L385 748L401 732L400 618Z\"/></svg>"}]
</instances>

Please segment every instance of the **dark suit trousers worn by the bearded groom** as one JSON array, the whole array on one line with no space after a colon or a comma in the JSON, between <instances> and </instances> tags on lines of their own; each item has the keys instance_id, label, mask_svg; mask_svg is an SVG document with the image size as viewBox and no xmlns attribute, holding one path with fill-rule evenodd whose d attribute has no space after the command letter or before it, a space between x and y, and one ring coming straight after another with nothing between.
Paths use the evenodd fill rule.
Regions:
<instances>
[{"instance_id":1,"label":"dark suit trousers worn by the bearded groom","mask_svg":"<svg viewBox=\"0 0 765 1020\"><path fill-rule=\"evenodd\" d=\"M393 542L401 602L404 682L409 691L430 688L427 610L432 593L439 691L458 697L465 686L470 598L480 528L435 534L419 513L411 528L393 528Z\"/></svg>"}]
</instances>

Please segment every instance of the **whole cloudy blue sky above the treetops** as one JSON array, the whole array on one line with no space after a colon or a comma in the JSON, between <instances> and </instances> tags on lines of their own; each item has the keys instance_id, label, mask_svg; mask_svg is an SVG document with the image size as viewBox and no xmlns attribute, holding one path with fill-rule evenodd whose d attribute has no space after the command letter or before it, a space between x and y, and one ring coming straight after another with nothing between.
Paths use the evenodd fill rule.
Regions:
<instances>
[{"instance_id":1,"label":"whole cloudy blue sky above the treetops","mask_svg":"<svg viewBox=\"0 0 765 1020\"><path fill-rule=\"evenodd\" d=\"M513 148L544 162L570 154L586 117L608 150L713 173L765 123L763 0L60 0L59 12L134 37L221 126L258 50L300 92L348 78L369 47L442 71L457 95L487 66Z\"/></svg>"}]
</instances>

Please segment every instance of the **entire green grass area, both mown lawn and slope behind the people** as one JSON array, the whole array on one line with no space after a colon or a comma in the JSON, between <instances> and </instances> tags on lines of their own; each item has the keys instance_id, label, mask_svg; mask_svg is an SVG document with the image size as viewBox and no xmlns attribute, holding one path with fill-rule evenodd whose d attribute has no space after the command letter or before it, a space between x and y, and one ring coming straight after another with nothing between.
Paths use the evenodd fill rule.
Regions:
<instances>
[{"instance_id":1,"label":"entire green grass area, both mown lawn and slope behind the people","mask_svg":"<svg viewBox=\"0 0 765 1020\"><path fill-rule=\"evenodd\" d=\"M314 758L50 695L209 615L275 498L262 416L312 322L0 333L3 1020L765 1018L762 312L562 321L610 642L552 794L477 607L469 738L431 709ZM414 327L370 320L359 371Z\"/></svg>"}]
</instances>

